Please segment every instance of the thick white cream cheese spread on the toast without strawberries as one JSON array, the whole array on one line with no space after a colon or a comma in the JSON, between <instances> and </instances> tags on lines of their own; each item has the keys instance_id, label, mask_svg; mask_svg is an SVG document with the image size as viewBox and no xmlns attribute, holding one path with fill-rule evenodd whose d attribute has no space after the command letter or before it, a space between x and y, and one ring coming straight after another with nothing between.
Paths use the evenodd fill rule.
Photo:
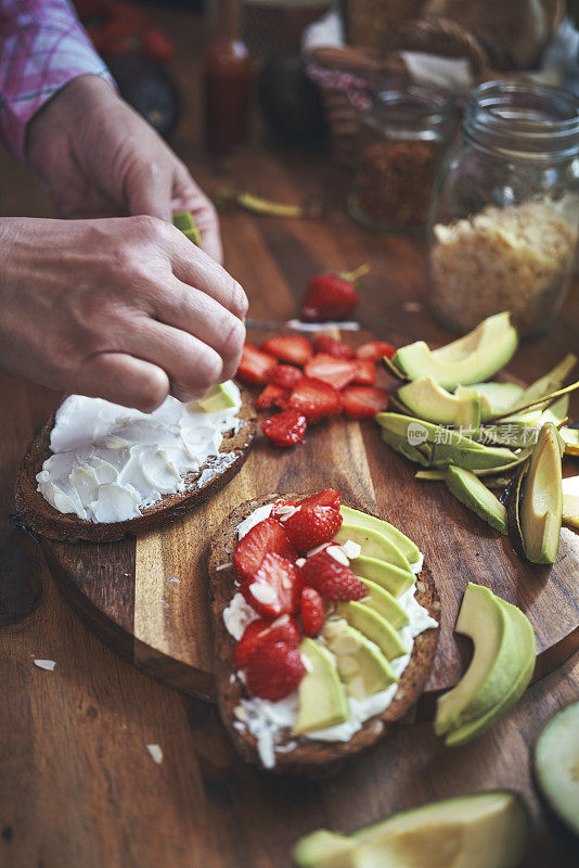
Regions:
<instances>
[{"instance_id":1,"label":"thick white cream cheese spread on the toast without strawberries","mask_svg":"<svg viewBox=\"0 0 579 868\"><path fill-rule=\"evenodd\" d=\"M227 467L223 434L235 430L242 400L223 384L232 407L207 413L195 401L169 396L152 413L101 398L70 395L56 411L53 455L37 474L38 490L59 512L92 522L134 519L143 509L186 488L185 476L216 458L196 484Z\"/></svg>"}]
</instances>

